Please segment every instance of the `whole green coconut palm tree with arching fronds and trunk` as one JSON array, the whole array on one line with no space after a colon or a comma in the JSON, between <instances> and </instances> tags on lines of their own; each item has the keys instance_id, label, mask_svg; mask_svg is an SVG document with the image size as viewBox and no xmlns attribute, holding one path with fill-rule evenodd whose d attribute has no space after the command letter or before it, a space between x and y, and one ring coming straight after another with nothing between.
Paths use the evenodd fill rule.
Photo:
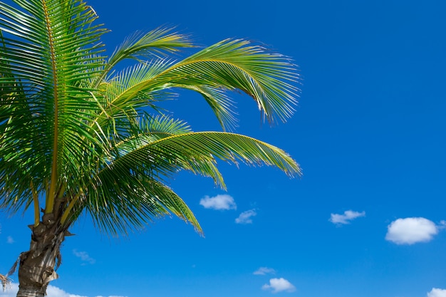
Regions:
<instances>
[{"instance_id":1,"label":"whole green coconut palm tree with arching fronds and trunk","mask_svg":"<svg viewBox=\"0 0 446 297\"><path fill-rule=\"evenodd\" d=\"M106 58L100 37L107 31L83 1L14 2L0 2L0 207L34 214L17 296L44 296L81 215L111 235L166 214L201 233L167 186L180 170L221 187L217 160L300 173L279 148L225 132L234 127L228 90L251 96L269 123L289 118L298 76L283 56L227 39L176 61L168 55L192 47L188 36L157 28ZM129 59L133 66L118 68ZM176 89L201 94L223 132L192 132L165 115L158 103Z\"/></svg>"}]
</instances>

